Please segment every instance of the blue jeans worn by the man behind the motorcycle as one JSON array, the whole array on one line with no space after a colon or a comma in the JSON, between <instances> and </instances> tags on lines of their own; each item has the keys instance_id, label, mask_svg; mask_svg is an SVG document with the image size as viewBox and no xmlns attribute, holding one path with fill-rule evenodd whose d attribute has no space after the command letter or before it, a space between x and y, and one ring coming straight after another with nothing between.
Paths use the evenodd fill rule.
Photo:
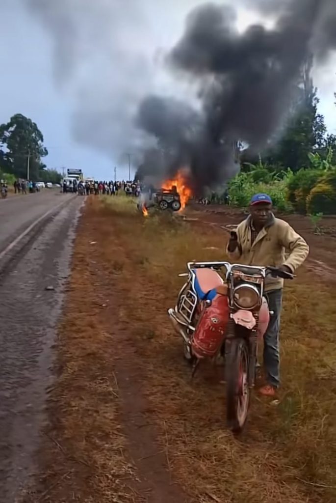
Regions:
<instances>
[{"instance_id":1,"label":"blue jeans worn by the man behind the motorcycle","mask_svg":"<svg viewBox=\"0 0 336 503\"><path fill-rule=\"evenodd\" d=\"M282 309L282 289L265 293L270 311L270 322L264 335L264 368L268 384L280 385L280 316Z\"/></svg>"}]
</instances>

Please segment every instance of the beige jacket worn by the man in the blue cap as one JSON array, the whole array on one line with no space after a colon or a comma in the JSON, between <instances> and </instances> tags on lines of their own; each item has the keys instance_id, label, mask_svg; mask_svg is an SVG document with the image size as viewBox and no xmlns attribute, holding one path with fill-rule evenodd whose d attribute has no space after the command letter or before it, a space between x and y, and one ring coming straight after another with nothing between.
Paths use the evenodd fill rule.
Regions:
<instances>
[{"instance_id":1,"label":"beige jacket worn by the man in the blue cap","mask_svg":"<svg viewBox=\"0 0 336 503\"><path fill-rule=\"evenodd\" d=\"M251 217L237 227L239 246L227 254L232 263L249 266L288 266L294 272L307 258L309 246L284 220L273 216L251 246ZM265 290L283 287L283 280L267 278Z\"/></svg>"}]
</instances>

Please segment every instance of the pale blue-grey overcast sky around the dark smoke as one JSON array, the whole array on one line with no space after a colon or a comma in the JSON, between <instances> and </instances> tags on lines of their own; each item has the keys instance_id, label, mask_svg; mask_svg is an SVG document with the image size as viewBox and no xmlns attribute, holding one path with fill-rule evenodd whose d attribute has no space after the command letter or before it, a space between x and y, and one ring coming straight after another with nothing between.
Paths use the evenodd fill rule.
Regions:
<instances>
[{"instance_id":1,"label":"pale blue-grey overcast sky around the dark smoke","mask_svg":"<svg viewBox=\"0 0 336 503\"><path fill-rule=\"evenodd\" d=\"M189 92L187 83L181 82L177 89L176 78L163 70L162 54L181 36L189 10L203 2L171 0L160 7L152 0L123 0L117 8L110 0L114 4L110 8L109 0L92 0L92 12L83 13L83 26L92 23L96 32L87 35L85 28L76 41L76 55L69 56L70 65L71 58L79 61L73 72L57 65L55 69L55 37L60 33L50 29L48 18L27 8L34 2L43 0L1 0L0 123L16 113L35 121L44 134L50 168L80 167L87 176L110 179L117 166L118 178L125 178L127 157L121 154L142 141L141 136L129 138L133 132L128 123L136 104L148 92ZM56 5L68 4L76 16L86 4L86 0L45 2L54 5L55 16L60 16ZM259 20L255 13L240 9L241 30ZM335 63L333 58L314 74L320 111L333 133Z\"/></svg>"}]
</instances>

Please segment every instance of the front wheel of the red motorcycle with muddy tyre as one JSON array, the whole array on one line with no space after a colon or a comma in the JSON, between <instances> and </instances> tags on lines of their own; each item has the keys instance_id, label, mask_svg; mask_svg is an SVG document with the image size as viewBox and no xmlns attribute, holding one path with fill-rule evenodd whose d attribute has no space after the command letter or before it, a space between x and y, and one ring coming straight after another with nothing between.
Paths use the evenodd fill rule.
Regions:
<instances>
[{"instance_id":1,"label":"front wheel of the red motorcycle with muddy tyre","mask_svg":"<svg viewBox=\"0 0 336 503\"><path fill-rule=\"evenodd\" d=\"M250 406L249 350L245 339L233 339L227 362L227 421L234 433L246 424Z\"/></svg>"}]
</instances>

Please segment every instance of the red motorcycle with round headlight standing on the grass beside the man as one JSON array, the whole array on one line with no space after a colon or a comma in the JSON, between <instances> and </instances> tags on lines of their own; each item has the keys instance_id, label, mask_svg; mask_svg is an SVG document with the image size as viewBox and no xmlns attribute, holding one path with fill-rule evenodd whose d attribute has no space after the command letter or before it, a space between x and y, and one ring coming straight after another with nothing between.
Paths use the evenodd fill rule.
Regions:
<instances>
[{"instance_id":1,"label":"red motorcycle with round headlight standing on the grass beside the man","mask_svg":"<svg viewBox=\"0 0 336 503\"><path fill-rule=\"evenodd\" d=\"M192 375L205 358L223 357L227 422L234 433L240 433L255 385L258 340L263 339L273 314L264 295L266 277L293 279L294 275L276 267L228 262L189 262L187 270L179 274L188 279L168 315L182 337Z\"/></svg>"}]
</instances>

